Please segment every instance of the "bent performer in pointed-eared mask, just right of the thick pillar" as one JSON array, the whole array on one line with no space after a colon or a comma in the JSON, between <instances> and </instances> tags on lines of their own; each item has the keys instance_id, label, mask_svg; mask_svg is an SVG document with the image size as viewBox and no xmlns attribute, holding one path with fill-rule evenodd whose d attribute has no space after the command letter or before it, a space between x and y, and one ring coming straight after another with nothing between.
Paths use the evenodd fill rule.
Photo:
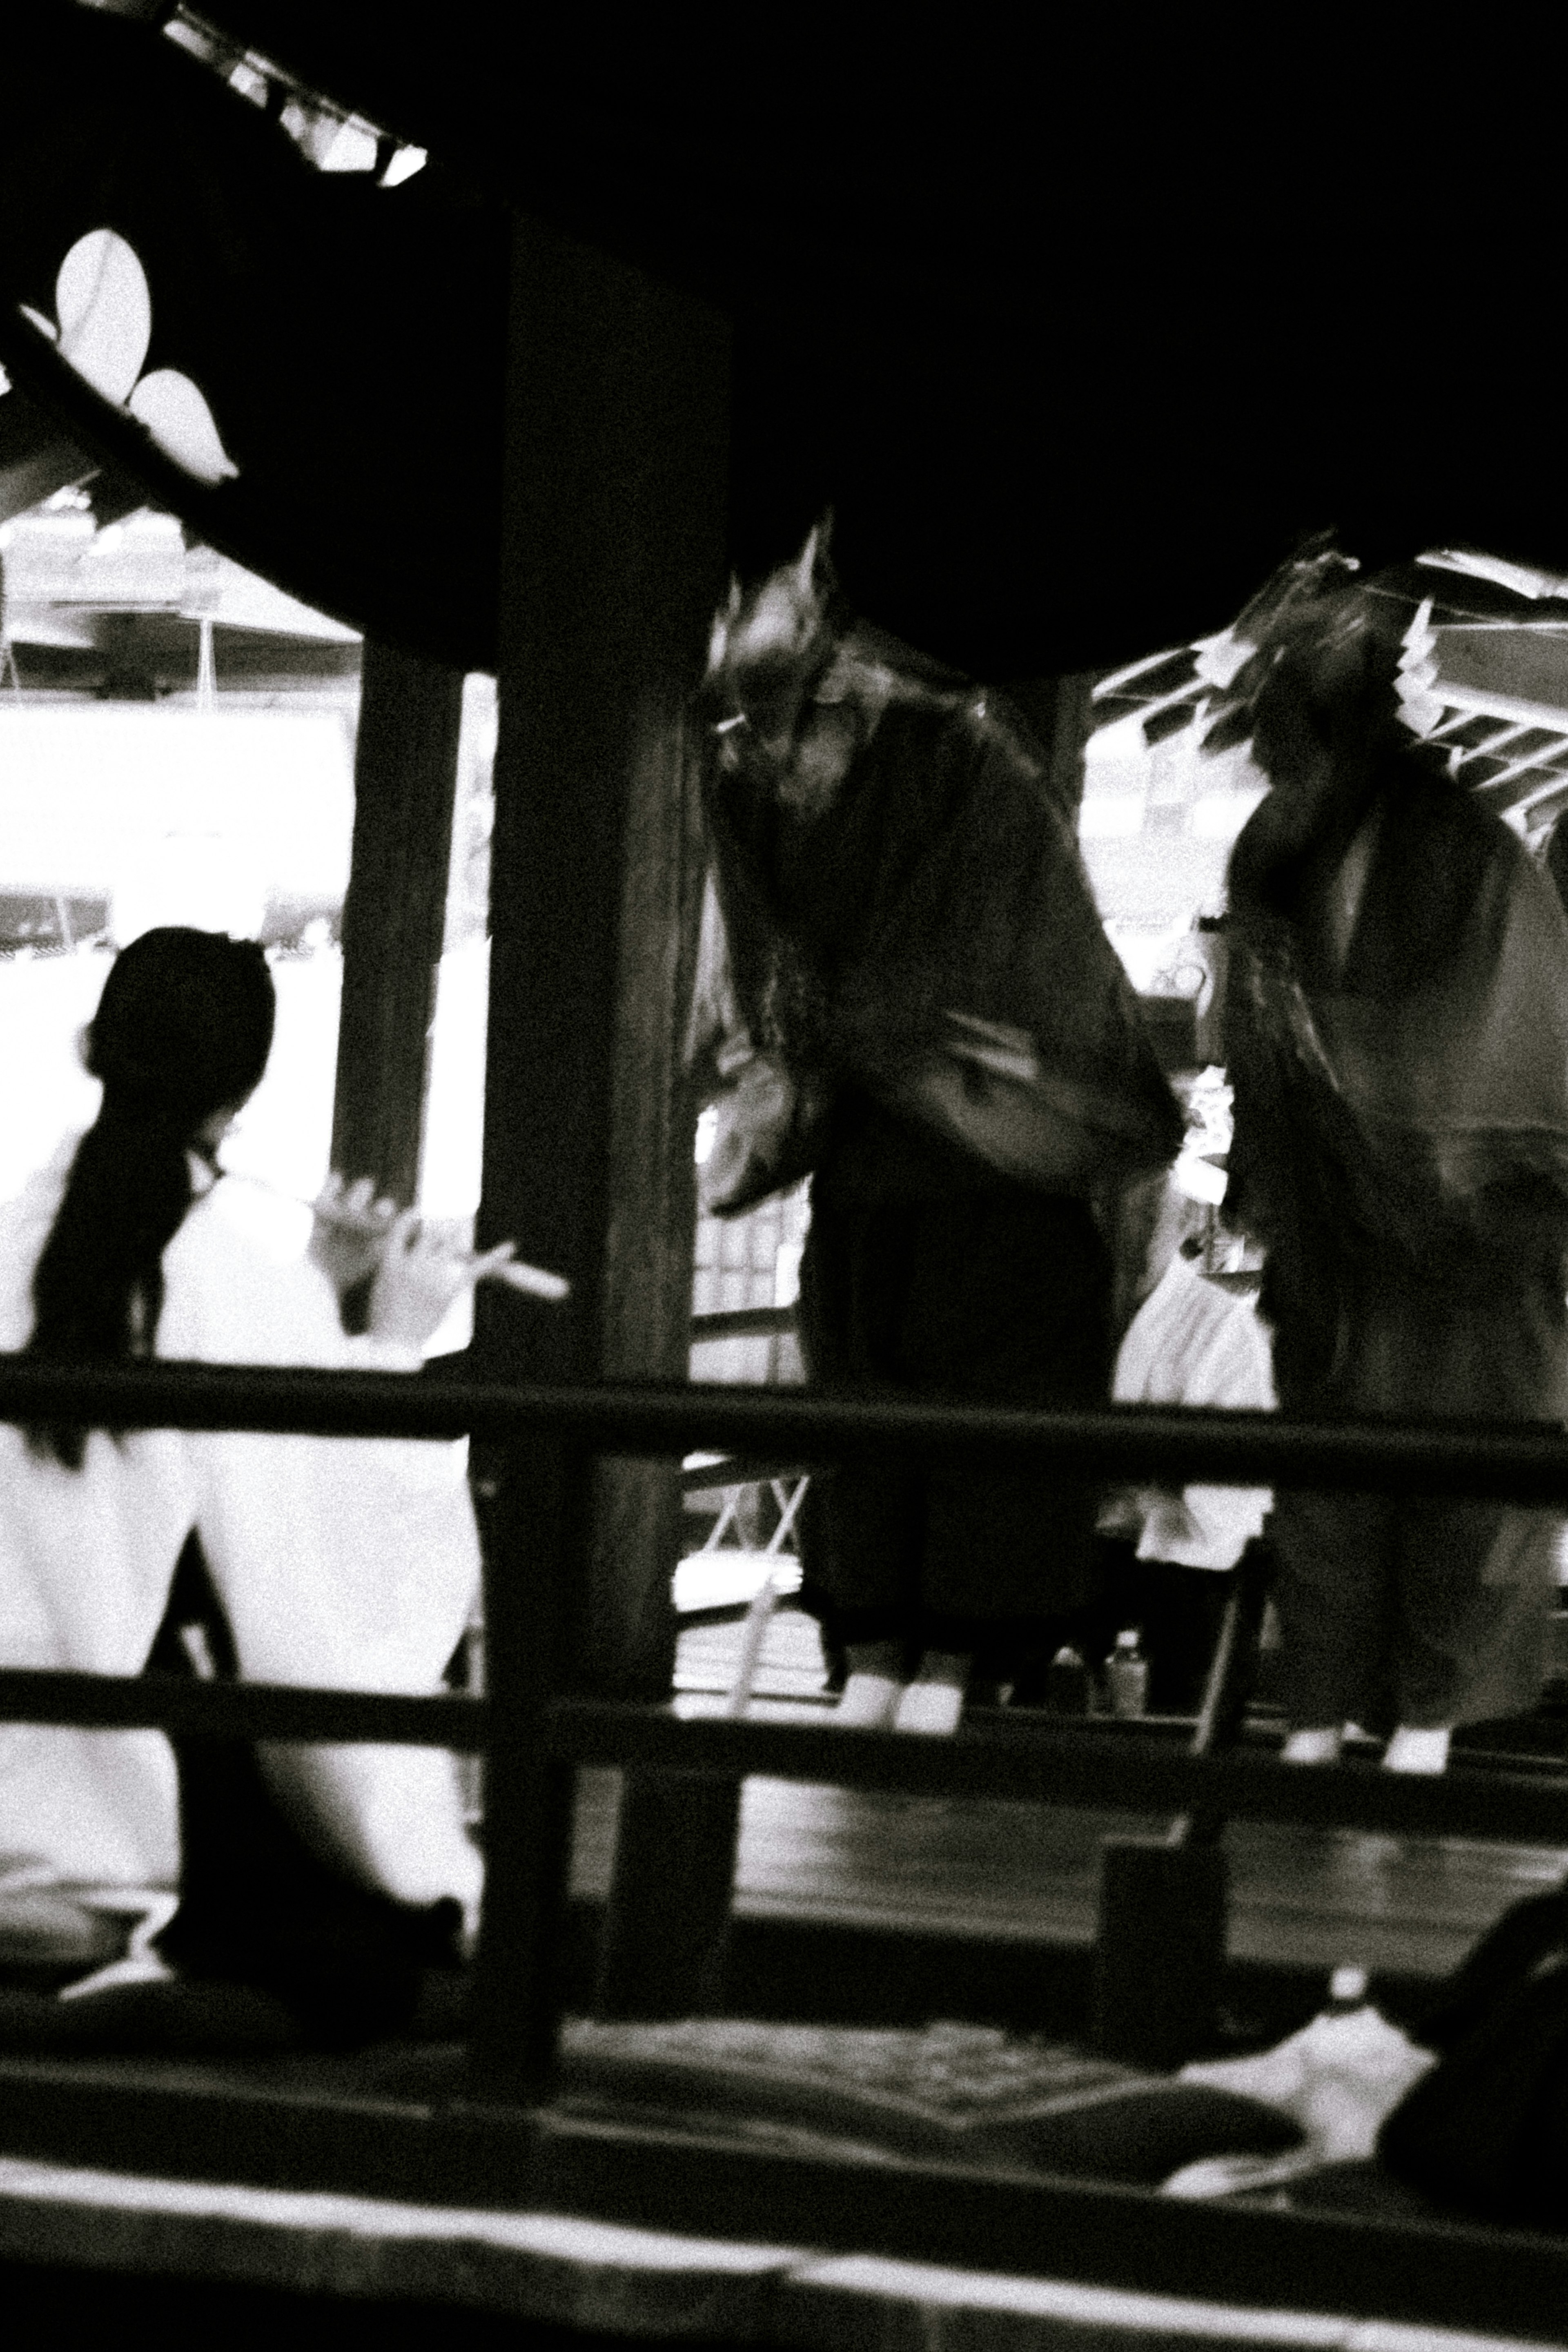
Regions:
<instances>
[{"instance_id":1,"label":"bent performer in pointed-eared mask, just right of the thick pillar","mask_svg":"<svg viewBox=\"0 0 1568 2352\"><path fill-rule=\"evenodd\" d=\"M1001 696L844 609L820 529L731 590L703 703L710 1209L811 1171L799 1322L825 1388L1107 1402L1093 1197L1182 1122L1044 755ZM1053 1472L813 1477L804 1599L846 1656L839 1719L952 1729L976 1661L1048 1658L1093 1602L1091 1538L1093 1496Z\"/></svg>"}]
</instances>

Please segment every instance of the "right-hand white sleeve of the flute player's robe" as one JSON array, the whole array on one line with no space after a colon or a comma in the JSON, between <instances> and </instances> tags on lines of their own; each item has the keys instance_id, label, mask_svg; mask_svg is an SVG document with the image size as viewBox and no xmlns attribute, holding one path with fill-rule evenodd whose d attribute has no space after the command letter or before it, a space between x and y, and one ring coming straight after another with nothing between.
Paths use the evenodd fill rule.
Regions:
<instances>
[{"instance_id":1,"label":"right-hand white sleeve of the flute player's robe","mask_svg":"<svg viewBox=\"0 0 1568 2352\"><path fill-rule=\"evenodd\" d=\"M320 1364L376 1355L343 1341L336 1298L308 1261L275 1263L209 1197L165 1256L160 1352L197 1362ZM188 1439L197 1534L254 1682L440 1689L470 1621L480 1543L463 1449L442 1442ZM409 1903L473 1907L480 1858L454 1759L428 1748L268 1748L263 1766L299 1828L369 1884Z\"/></svg>"}]
</instances>

